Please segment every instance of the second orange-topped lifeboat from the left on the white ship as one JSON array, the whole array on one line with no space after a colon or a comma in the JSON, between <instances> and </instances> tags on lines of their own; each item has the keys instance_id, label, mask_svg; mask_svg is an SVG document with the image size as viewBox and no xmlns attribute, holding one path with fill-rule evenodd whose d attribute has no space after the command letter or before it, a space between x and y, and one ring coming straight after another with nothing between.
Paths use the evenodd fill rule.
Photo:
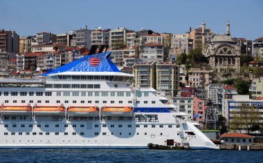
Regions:
<instances>
[{"instance_id":1,"label":"second orange-topped lifeboat from the left on the white ship","mask_svg":"<svg viewBox=\"0 0 263 163\"><path fill-rule=\"evenodd\" d=\"M34 115L65 115L64 106L35 106Z\"/></svg>"}]
</instances>

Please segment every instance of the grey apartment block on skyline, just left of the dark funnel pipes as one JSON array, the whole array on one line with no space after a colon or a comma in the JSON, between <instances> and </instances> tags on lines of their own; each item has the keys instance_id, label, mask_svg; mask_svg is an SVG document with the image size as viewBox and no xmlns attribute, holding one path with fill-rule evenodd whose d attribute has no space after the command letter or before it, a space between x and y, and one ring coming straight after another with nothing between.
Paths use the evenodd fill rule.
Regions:
<instances>
[{"instance_id":1,"label":"grey apartment block on skyline, just left of the dark funnel pipes","mask_svg":"<svg viewBox=\"0 0 263 163\"><path fill-rule=\"evenodd\" d=\"M86 26L78 30L73 30L71 39L71 47L86 47L91 48L91 30Z\"/></svg>"}]
</instances>

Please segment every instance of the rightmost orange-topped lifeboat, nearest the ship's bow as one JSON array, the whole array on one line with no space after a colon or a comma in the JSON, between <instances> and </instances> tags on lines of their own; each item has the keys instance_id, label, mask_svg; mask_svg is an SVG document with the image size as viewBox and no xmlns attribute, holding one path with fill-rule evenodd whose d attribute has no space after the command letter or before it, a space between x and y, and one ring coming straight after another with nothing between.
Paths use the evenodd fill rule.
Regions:
<instances>
[{"instance_id":1,"label":"rightmost orange-topped lifeboat, nearest the ship's bow","mask_svg":"<svg viewBox=\"0 0 263 163\"><path fill-rule=\"evenodd\" d=\"M115 117L132 117L134 111L131 107L105 107L102 110L102 114L105 116L115 116Z\"/></svg>"}]
</instances>

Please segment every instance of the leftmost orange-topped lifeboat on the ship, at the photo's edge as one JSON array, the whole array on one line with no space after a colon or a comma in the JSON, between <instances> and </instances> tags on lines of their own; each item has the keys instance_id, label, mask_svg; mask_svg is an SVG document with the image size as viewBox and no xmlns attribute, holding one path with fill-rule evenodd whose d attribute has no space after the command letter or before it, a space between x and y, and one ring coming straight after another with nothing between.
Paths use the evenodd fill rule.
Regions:
<instances>
[{"instance_id":1,"label":"leftmost orange-topped lifeboat on the ship, at the photo's edge","mask_svg":"<svg viewBox=\"0 0 263 163\"><path fill-rule=\"evenodd\" d=\"M32 113L31 106L3 106L1 105L1 115L30 115Z\"/></svg>"}]
</instances>

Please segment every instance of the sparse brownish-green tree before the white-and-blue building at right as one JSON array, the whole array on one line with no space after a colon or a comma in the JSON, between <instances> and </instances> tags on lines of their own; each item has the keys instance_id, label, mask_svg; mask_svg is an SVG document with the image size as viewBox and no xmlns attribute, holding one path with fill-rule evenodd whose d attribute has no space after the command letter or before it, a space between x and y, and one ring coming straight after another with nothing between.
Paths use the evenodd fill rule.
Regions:
<instances>
[{"instance_id":1,"label":"sparse brownish-green tree before the white-and-blue building at right","mask_svg":"<svg viewBox=\"0 0 263 163\"><path fill-rule=\"evenodd\" d=\"M241 106L236 106L234 111L230 111L230 129L232 131L239 131L241 133L243 130L249 133L253 124L253 129L255 129L255 124L258 124L259 121L258 109L254 106L242 104Z\"/></svg>"}]
</instances>

